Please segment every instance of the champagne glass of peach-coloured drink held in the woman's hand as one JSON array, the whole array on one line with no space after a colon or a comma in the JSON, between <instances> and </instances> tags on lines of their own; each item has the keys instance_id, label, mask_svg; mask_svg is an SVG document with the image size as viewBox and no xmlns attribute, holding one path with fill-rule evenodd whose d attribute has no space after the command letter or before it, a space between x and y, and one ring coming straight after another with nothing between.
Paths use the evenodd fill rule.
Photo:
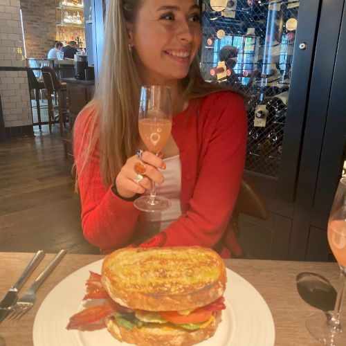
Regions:
<instances>
[{"instance_id":1,"label":"champagne glass of peach-coloured drink held in the woman's hand","mask_svg":"<svg viewBox=\"0 0 346 346\"><path fill-rule=\"evenodd\" d=\"M138 113L140 138L150 152L161 152L172 129L172 96L169 86L142 86ZM134 206L145 212L161 212L170 208L171 202L156 195L155 183L149 195L139 197Z\"/></svg>"}]
</instances>

